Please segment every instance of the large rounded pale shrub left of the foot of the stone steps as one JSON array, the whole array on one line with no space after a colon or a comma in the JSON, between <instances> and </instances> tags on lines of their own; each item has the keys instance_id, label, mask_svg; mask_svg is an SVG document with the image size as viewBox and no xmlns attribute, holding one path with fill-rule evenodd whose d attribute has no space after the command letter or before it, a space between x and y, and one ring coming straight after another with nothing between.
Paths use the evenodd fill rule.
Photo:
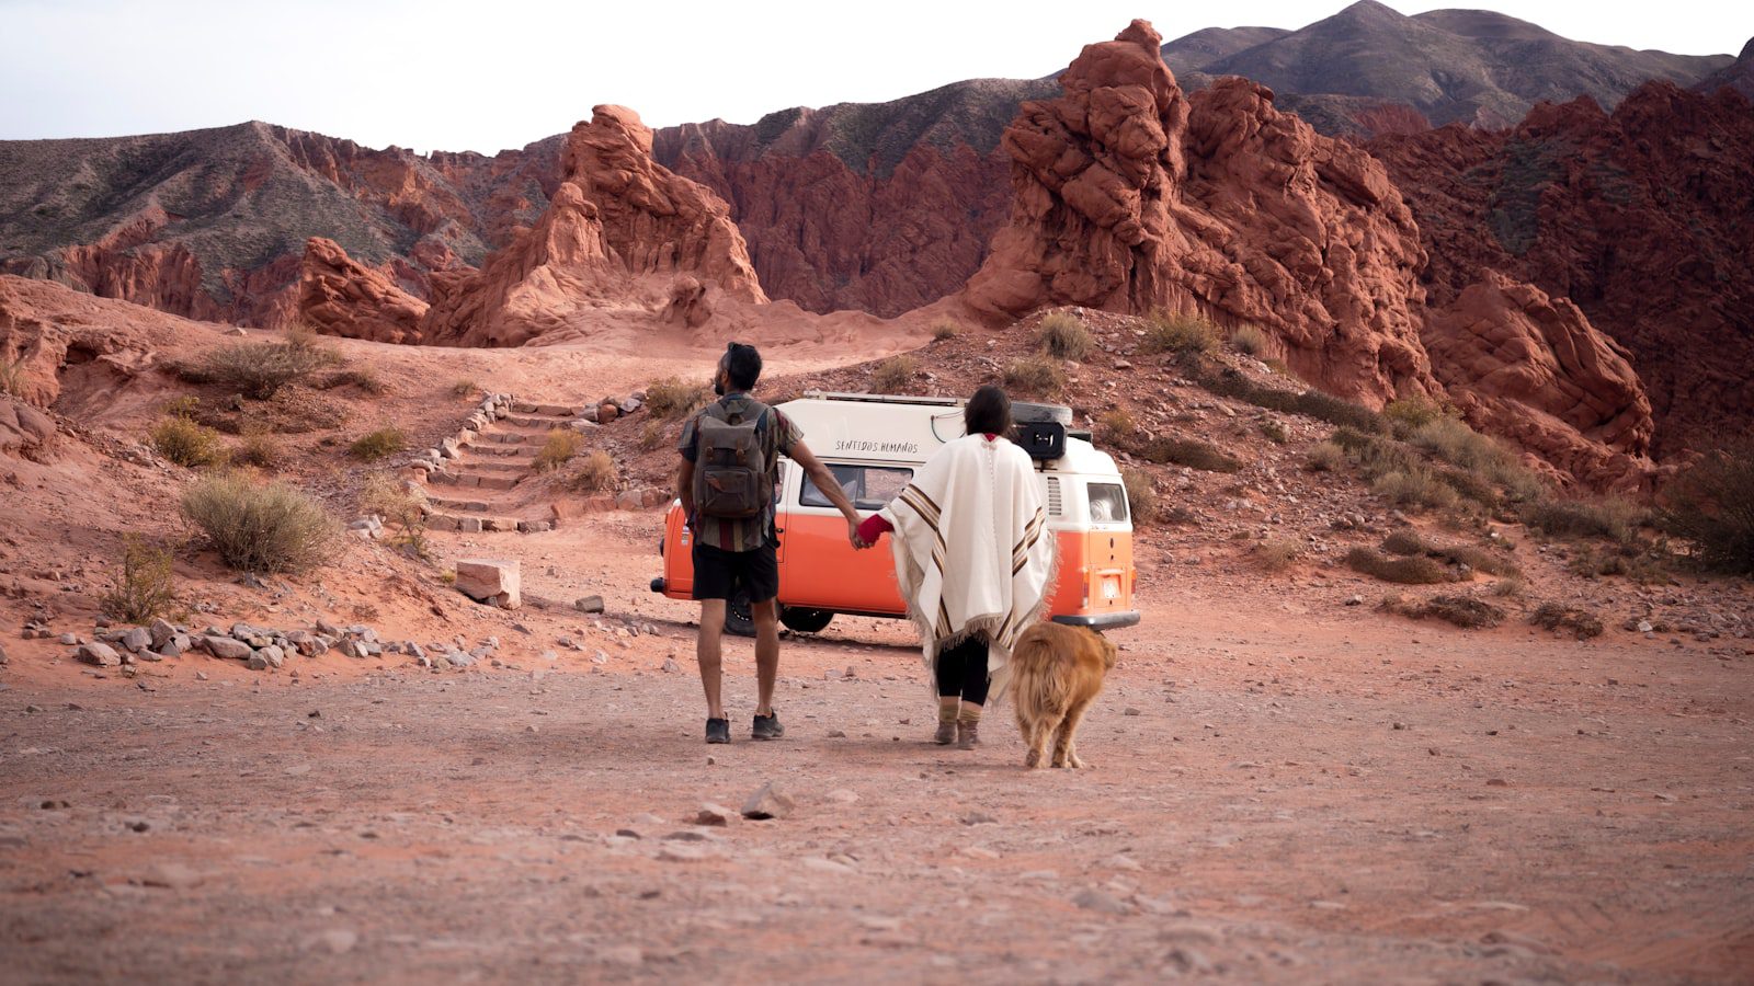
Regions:
<instances>
[{"instance_id":1,"label":"large rounded pale shrub left of the foot of the stone steps","mask_svg":"<svg viewBox=\"0 0 1754 986\"><path fill-rule=\"evenodd\" d=\"M316 498L281 482L212 474L182 495L182 516L240 572L300 572L324 560L337 525Z\"/></svg>"}]
</instances>

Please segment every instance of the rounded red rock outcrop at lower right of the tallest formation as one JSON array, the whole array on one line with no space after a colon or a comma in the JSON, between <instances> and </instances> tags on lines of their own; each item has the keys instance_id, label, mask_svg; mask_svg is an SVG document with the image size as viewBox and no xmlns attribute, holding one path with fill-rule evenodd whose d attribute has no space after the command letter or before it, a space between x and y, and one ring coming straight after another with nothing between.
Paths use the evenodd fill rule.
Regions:
<instances>
[{"instance_id":1,"label":"rounded red rock outcrop at lower right of the tallest formation","mask_svg":"<svg viewBox=\"0 0 1754 986\"><path fill-rule=\"evenodd\" d=\"M1626 351L1572 302L1487 272L1431 312L1421 339L1477 428L1587 486L1635 491L1649 475L1651 400Z\"/></svg>"}]
</instances>

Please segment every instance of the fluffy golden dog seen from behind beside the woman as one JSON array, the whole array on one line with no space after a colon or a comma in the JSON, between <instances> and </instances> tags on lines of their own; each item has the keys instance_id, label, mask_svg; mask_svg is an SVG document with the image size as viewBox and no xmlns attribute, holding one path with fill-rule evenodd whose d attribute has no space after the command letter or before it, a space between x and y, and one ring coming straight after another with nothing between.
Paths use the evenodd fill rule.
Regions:
<instances>
[{"instance_id":1,"label":"fluffy golden dog seen from behind beside the woman","mask_svg":"<svg viewBox=\"0 0 1754 986\"><path fill-rule=\"evenodd\" d=\"M1102 633L1061 623L1037 623L1023 632L1005 668L1002 691L1017 709L1017 732L1028 744L1024 767L1042 767L1054 744L1054 767L1084 767L1079 721L1114 667L1114 644Z\"/></svg>"}]
</instances>

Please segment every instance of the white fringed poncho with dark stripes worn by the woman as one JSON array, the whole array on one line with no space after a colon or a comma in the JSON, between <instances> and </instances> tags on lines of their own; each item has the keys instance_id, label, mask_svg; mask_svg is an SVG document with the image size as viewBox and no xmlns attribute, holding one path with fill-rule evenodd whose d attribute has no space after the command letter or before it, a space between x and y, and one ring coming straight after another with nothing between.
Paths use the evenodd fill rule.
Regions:
<instances>
[{"instance_id":1,"label":"white fringed poncho with dark stripes worn by the woman","mask_svg":"<svg viewBox=\"0 0 1754 986\"><path fill-rule=\"evenodd\" d=\"M984 632L998 672L1052 586L1054 535L1030 456L1005 439L956 439L881 512L926 667Z\"/></svg>"}]
</instances>

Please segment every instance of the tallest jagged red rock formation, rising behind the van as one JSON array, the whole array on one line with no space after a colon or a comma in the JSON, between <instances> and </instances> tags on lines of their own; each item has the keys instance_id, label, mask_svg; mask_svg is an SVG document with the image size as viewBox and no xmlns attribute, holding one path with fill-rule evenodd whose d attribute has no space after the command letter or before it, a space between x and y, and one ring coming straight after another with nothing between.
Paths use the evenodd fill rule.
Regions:
<instances>
[{"instance_id":1,"label":"tallest jagged red rock formation, rising behind the van","mask_svg":"<svg viewBox=\"0 0 1754 986\"><path fill-rule=\"evenodd\" d=\"M966 302L1203 311L1252 321L1338 393L1428 388L1424 261L1412 214L1363 151L1319 137L1272 93L1221 79L1187 100L1144 21L1093 44L1065 95L1005 132L1016 204Z\"/></svg>"}]
</instances>

